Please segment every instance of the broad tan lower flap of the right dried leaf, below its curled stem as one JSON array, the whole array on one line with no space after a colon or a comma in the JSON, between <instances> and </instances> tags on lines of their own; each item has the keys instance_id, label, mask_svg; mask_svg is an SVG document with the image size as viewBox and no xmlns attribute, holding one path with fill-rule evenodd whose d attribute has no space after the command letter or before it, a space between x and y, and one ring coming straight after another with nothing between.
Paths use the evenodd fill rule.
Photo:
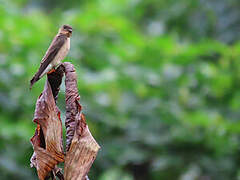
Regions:
<instances>
[{"instance_id":1,"label":"broad tan lower flap of the right dried leaf, below its curled stem","mask_svg":"<svg viewBox=\"0 0 240 180\"><path fill-rule=\"evenodd\" d=\"M76 116L76 131L65 158L64 179L82 180L97 156L100 146L92 137L82 113Z\"/></svg>"}]
</instances>

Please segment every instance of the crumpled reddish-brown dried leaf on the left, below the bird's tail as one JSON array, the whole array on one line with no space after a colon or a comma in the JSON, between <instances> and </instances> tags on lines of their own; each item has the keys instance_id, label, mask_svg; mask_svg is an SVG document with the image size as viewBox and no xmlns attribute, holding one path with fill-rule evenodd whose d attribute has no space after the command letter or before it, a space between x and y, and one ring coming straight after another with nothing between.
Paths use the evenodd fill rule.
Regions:
<instances>
[{"instance_id":1,"label":"crumpled reddish-brown dried leaf on the left, below the bird's tail","mask_svg":"<svg viewBox=\"0 0 240 180\"><path fill-rule=\"evenodd\" d=\"M40 180L44 180L59 162L64 161L62 123L59 114L50 84L47 81L44 91L36 103L34 122L38 126L31 139L34 148L31 164L37 168ZM41 140L41 130L44 144Z\"/></svg>"}]
</instances>

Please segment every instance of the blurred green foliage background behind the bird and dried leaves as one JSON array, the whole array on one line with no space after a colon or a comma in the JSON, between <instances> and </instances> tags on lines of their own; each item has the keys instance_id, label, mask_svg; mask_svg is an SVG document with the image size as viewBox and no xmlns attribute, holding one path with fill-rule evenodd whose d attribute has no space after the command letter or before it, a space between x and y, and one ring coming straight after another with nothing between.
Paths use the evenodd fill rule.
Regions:
<instances>
[{"instance_id":1,"label":"blurred green foliage background behind the bird and dried leaves","mask_svg":"<svg viewBox=\"0 0 240 180\"><path fill-rule=\"evenodd\" d=\"M0 0L0 179L37 179L29 139L62 24L101 150L97 180L240 179L240 1ZM58 105L64 120L64 83Z\"/></svg>"}]
</instances>

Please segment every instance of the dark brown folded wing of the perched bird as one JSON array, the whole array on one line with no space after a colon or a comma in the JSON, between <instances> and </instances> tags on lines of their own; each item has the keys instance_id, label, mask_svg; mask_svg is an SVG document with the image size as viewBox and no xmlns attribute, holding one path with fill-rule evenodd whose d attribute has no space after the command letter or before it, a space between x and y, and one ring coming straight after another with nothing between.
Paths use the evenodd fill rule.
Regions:
<instances>
[{"instance_id":1,"label":"dark brown folded wing of the perched bird","mask_svg":"<svg viewBox=\"0 0 240 180\"><path fill-rule=\"evenodd\" d=\"M54 57L57 55L58 51L61 49L66 40L67 37L64 35L57 35L53 39L51 45L49 46L46 54L44 55L41 61L38 72L34 75L32 80L30 81L30 87L32 87L32 85L40 79L41 74L48 67L48 65L51 63Z\"/></svg>"}]
</instances>

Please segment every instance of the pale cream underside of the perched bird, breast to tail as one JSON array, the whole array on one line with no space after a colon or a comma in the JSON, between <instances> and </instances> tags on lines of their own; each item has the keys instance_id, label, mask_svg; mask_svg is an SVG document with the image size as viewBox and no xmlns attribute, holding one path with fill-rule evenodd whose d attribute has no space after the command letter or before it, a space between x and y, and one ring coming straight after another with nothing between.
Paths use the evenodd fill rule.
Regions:
<instances>
[{"instance_id":1,"label":"pale cream underside of the perched bird, breast to tail","mask_svg":"<svg viewBox=\"0 0 240 180\"><path fill-rule=\"evenodd\" d=\"M61 61L66 57L70 49L70 38L67 38L67 41L63 44L57 55L54 57L52 62L47 66L47 68L40 75L40 78L47 74L51 69L56 68Z\"/></svg>"}]
</instances>

